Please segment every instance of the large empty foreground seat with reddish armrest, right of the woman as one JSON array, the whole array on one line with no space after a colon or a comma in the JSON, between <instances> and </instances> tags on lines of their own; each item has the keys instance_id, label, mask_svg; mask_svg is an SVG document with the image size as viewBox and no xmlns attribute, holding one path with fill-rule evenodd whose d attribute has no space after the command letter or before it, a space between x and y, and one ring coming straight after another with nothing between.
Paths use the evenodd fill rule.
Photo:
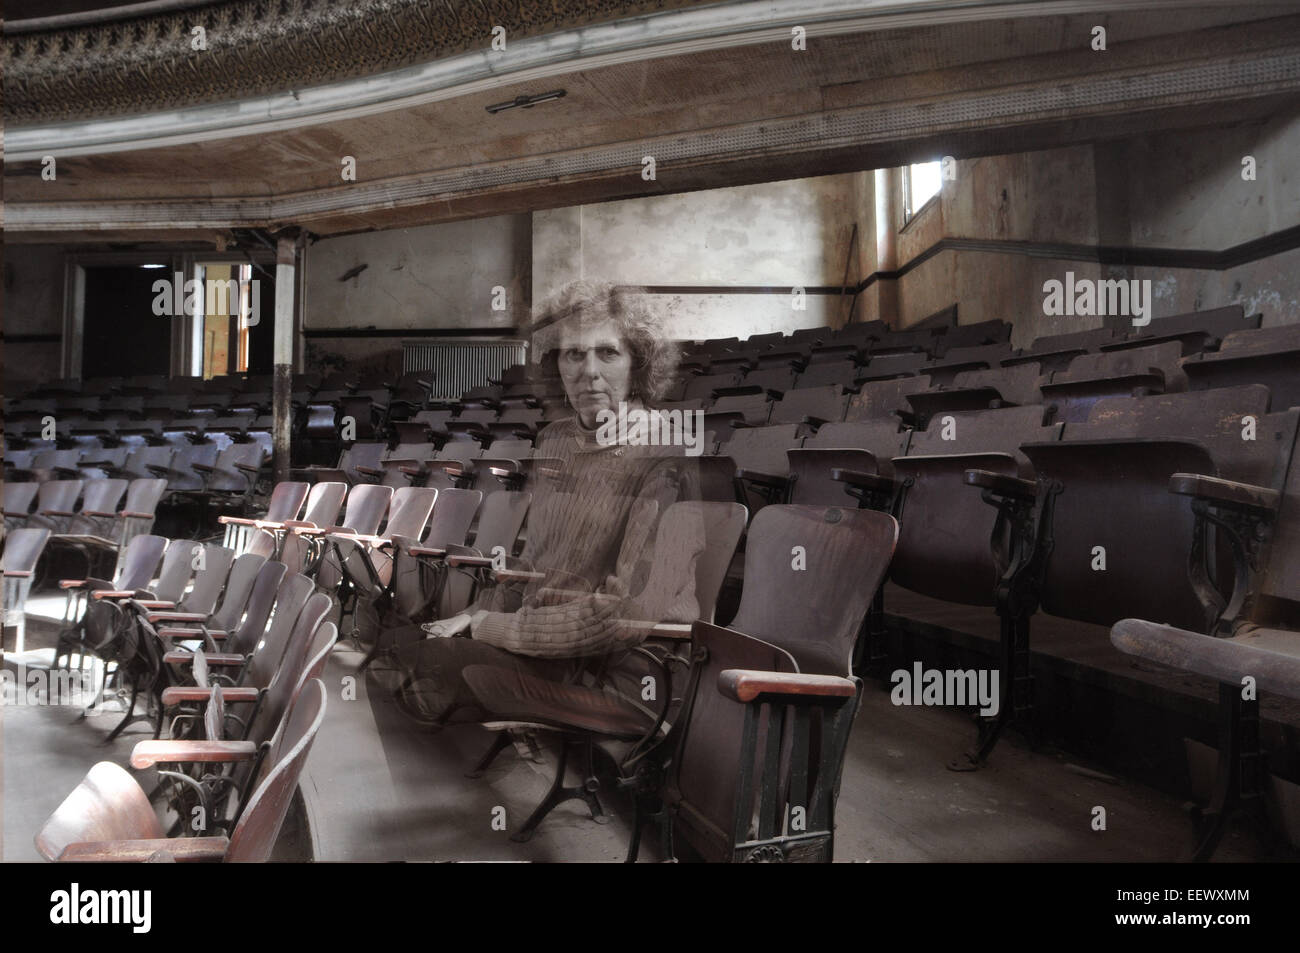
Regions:
<instances>
[{"instance_id":1,"label":"large empty foreground seat with reddish armrest, right of the woman","mask_svg":"<svg viewBox=\"0 0 1300 953\"><path fill-rule=\"evenodd\" d=\"M699 660L660 792L670 848L711 861L833 858L861 690L849 659L896 533L871 511L783 506L754 517L736 618L694 627ZM790 540L815 575L794 568ZM789 599L796 589L802 597ZM796 809L801 824L789 823Z\"/></svg>"}]
</instances>

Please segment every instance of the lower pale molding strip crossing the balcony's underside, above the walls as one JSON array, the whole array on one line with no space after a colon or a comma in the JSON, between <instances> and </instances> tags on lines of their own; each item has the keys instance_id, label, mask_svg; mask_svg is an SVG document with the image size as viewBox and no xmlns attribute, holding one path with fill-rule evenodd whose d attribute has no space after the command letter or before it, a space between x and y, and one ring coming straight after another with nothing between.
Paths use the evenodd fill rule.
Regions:
<instances>
[{"instance_id":1,"label":"lower pale molding strip crossing the balcony's underside, above the walls","mask_svg":"<svg viewBox=\"0 0 1300 953\"><path fill-rule=\"evenodd\" d=\"M1071 75L1046 86L1004 87L939 101L840 109L272 199L17 202L6 204L5 213L6 225L16 231L226 229L286 221L309 226L316 218L447 203L528 185L619 174L640 178L640 160L646 152L655 155L663 174L673 166L741 161L757 155L815 155L968 130L1078 124L1089 118L1141 116L1148 111L1242 103L1296 92L1300 92L1300 47L1288 47L1253 59L1223 56L1143 72Z\"/></svg>"}]
</instances>

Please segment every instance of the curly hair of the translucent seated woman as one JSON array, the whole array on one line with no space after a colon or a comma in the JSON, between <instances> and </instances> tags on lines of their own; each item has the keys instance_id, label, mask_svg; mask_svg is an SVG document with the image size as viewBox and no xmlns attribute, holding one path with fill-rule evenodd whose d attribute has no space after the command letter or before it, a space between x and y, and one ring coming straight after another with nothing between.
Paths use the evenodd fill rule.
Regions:
<instances>
[{"instance_id":1,"label":"curly hair of the translucent seated woman","mask_svg":"<svg viewBox=\"0 0 1300 953\"><path fill-rule=\"evenodd\" d=\"M632 355L630 394L646 402L663 399L676 380L680 350L664 334L663 321L638 300L640 294L645 291L638 287L594 281L566 285L537 312L533 352L541 355L543 374L558 373L555 358L563 328L612 321Z\"/></svg>"}]
</instances>

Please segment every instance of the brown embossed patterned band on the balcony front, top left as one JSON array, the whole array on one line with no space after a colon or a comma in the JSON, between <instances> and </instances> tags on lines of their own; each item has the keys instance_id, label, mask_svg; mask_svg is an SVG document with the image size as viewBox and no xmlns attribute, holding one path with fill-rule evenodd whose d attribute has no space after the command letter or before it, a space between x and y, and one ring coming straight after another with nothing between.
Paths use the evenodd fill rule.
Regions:
<instances>
[{"instance_id":1,"label":"brown embossed patterned band on the balcony front, top left","mask_svg":"<svg viewBox=\"0 0 1300 953\"><path fill-rule=\"evenodd\" d=\"M155 112L373 75L506 39L708 0L229 0L74 29L6 33L5 118ZM207 48L191 49L202 26Z\"/></svg>"}]
</instances>

